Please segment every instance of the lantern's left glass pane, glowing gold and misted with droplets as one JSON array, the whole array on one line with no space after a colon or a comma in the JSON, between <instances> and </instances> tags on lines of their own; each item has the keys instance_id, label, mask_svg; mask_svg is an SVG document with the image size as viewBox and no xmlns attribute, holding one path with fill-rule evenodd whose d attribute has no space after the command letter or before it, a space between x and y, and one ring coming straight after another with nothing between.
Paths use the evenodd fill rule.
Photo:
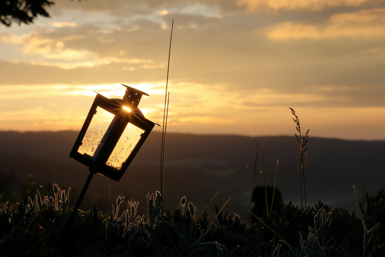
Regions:
<instances>
[{"instance_id":1,"label":"lantern's left glass pane, glowing gold and misted with droplets","mask_svg":"<svg viewBox=\"0 0 385 257\"><path fill-rule=\"evenodd\" d=\"M114 117L114 114L98 106L96 108L96 114L92 117L87 132L84 135L82 145L77 152L96 158L114 125L112 124Z\"/></svg>"}]
</instances>

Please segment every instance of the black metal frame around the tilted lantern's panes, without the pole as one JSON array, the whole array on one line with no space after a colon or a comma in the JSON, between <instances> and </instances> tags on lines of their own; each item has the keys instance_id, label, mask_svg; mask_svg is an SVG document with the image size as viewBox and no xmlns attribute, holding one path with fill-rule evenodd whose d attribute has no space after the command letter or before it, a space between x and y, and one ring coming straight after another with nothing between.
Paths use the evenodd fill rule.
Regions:
<instances>
[{"instance_id":1,"label":"black metal frame around the tilted lantern's panes, without the pole","mask_svg":"<svg viewBox=\"0 0 385 257\"><path fill-rule=\"evenodd\" d=\"M132 92L134 91L134 89L133 88L129 88L129 89L131 89L131 93L134 95L135 93ZM139 90L135 89L135 91L139 91ZM146 94L142 91L139 91L139 92ZM140 100L141 95L137 96L137 98L138 97ZM137 100L137 102L139 102L139 100ZM79 136L75 141L74 147L72 148L72 151L69 155L71 158L74 158L75 160L89 167L90 172L100 173L118 182L121 179L124 172L127 170L132 159L134 159L136 153L141 148L147 136L150 134L150 132L155 126L155 123L144 118L143 114L140 112L138 108L133 107L132 104L130 105L128 103L131 103L131 102L129 102L129 100L125 101L125 99L123 100L108 99L107 97L104 97L101 94L97 94L90 108L90 111L87 115L87 118L85 119L83 127L80 130ZM114 114L116 121L114 124L111 123L110 127L106 131L106 134L108 133L108 135L105 135L106 138L104 138L104 144L102 145L99 154L96 157L92 157L90 155L87 155L87 153L81 154L78 152L78 150L79 150L79 147L82 145L82 141L87 132L87 129L90 126L92 118L97 113L97 110L96 110L97 107L100 107L108 111L109 113ZM130 109L130 111L127 109ZM127 156L128 158L126 159L126 161L124 161L121 168L116 169L107 165L106 163L112 151L114 150L117 142L121 138L122 133L128 123L131 123L134 126L144 130L144 133L141 134L141 138L139 139L135 147L132 149L130 155Z\"/></svg>"}]
</instances>

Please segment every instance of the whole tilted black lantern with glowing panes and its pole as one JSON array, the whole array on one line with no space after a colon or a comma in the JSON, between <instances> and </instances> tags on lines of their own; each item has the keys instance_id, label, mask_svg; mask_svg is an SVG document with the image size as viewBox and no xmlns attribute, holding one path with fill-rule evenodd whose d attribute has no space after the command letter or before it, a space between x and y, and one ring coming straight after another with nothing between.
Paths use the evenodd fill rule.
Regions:
<instances>
[{"instance_id":1,"label":"whole tilted black lantern with glowing panes and its pole","mask_svg":"<svg viewBox=\"0 0 385 257\"><path fill-rule=\"evenodd\" d=\"M100 173L119 181L155 126L155 123L144 118L138 108L142 95L149 95L123 86L127 87L123 99L108 99L97 94L69 155L89 167L90 171L69 225L92 176Z\"/></svg>"}]
</instances>

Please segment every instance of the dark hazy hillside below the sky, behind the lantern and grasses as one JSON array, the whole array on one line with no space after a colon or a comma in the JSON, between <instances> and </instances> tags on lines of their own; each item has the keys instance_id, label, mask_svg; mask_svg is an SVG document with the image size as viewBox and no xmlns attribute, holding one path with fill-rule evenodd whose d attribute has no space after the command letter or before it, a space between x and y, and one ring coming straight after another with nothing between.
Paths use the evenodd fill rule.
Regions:
<instances>
[{"instance_id":1,"label":"dark hazy hillside below the sky, behind the lantern and grasses","mask_svg":"<svg viewBox=\"0 0 385 257\"><path fill-rule=\"evenodd\" d=\"M61 188L71 187L71 200L80 192L87 168L68 157L78 132L0 132L0 170L10 172L20 181L29 174L40 183L57 183ZM222 186L226 185L246 165L249 168L214 201L221 205L233 197L249 203L253 176L256 141L259 140L257 171L263 170L262 142L265 142L266 169L294 163L299 159L299 145L295 137L223 136L167 134L165 156L164 198L170 209L177 208L181 197L202 208ZM151 133L119 183L113 182L112 199L124 195L132 200L147 203L145 194L159 190L159 133ZM373 193L385 186L385 141L349 141L341 139L310 138L308 150L307 202L314 205L319 198L331 206L355 207L353 185L358 198L362 188ZM268 173L268 184L273 185L275 171ZM258 172L256 185L263 185ZM290 199L300 204L299 166L293 165L278 171L277 186L284 202ZM87 191L83 207L107 206L109 179L94 176ZM49 189L51 190L51 189ZM5 199L2 199L4 201ZM74 204L74 202L72 204ZM139 211L146 210L146 204ZM229 203L229 210L244 212ZM211 208L213 211L213 208Z\"/></svg>"}]
</instances>

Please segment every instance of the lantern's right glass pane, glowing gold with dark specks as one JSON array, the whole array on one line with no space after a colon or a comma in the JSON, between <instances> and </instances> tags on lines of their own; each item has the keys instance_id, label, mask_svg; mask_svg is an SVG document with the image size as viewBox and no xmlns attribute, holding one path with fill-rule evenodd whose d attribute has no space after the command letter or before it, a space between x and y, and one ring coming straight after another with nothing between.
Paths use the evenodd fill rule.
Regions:
<instances>
[{"instance_id":1,"label":"lantern's right glass pane, glowing gold with dark specks","mask_svg":"<svg viewBox=\"0 0 385 257\"><path fill-rule=\"evenodd\" d=\"M124 161L126 161L131 154L132 149L134 149L139 139L141 139L142 133L144 133L143 129L128 123L106 164L120 170Z\"/></svg>"}]
</instances>

